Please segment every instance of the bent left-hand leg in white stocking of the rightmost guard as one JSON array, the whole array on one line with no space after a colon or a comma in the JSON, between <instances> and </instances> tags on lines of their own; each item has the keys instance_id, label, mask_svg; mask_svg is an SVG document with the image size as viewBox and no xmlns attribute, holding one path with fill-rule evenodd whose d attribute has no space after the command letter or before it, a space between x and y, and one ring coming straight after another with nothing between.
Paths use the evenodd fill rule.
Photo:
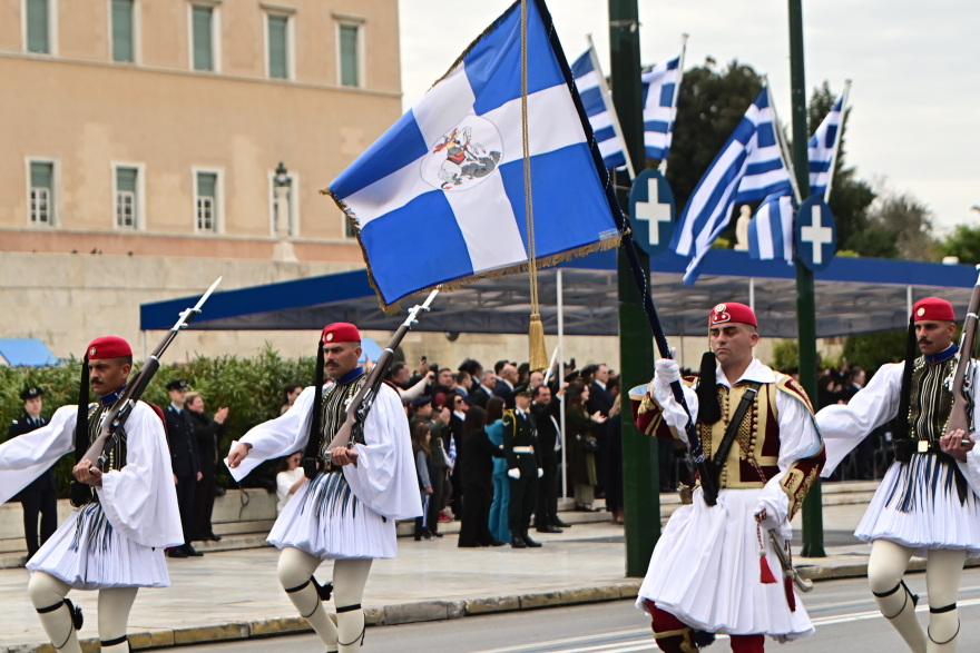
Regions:
<instances>
[{"instance_id":1,"label":"bent left-hand leg in white stocking of the rightmost guard","mask_svg":"<svg viewBox=\"0 0 980 653\"><path fill-rule=\"evenodd\" d=\"M915 619L915 604L902 576L909 567L912 550L888 540L875 540L871 544L868 561L868 583L874 593L881 614L905 640L912 653L925 652L925 633Z\"/></svg>"}]
</instances>

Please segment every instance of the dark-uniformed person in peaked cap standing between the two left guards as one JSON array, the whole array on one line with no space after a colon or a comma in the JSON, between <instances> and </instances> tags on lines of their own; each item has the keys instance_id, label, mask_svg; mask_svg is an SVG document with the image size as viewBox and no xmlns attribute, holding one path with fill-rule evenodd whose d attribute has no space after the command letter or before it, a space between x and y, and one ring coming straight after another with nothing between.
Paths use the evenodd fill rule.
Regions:
<instances>
[{"instance_id":1,"label":"dark-uniformed person in peaked cap standing between the two left guards","mask_svg":"<svg viewBox=\"0 0 980 653\"><path fill-rule=\"evenodd\" d=\"M197 438L190 415L184 408L187 399L187 380L178 378L167 384L170 405L164 408L167 418L167 441L170 445L170 465L174 467L174 483L177 487L177 506L180 509L180 524L184 527L184 546L167 552L170 557L203 555L190 545L194 530L194 491L202 478L200 456L197 453Z\"/></svg>"}]
</instances>

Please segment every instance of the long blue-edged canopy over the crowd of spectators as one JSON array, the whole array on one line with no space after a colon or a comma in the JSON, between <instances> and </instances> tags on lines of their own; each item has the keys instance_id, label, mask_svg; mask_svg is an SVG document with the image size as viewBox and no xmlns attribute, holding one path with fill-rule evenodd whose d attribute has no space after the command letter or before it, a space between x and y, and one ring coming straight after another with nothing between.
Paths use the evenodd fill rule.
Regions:
<instances>
[{"instance_id":1,"label":"long blue-edged canopy over the crowd of spectators","mask_svg":"<svg viewBox=\"0 0 980 653\"><path fill-rule=\"evenodd\" d=\"M693 287L684 286L686 259L664 254L650 259L650 288L669 336L702 336L707 311L723 301L754 304L763 336L796 337L795 269L781 260L753 260L745 251L712 250ZM566 335L617 335L616 250L599 251L538 273L541 321L558 330L558 276L561 275ZM841 336L909 323L911 303L939 295L959 315L966 310L977 271L967 265L836 257L815 276L816 334ZM233 279L226 279L234 283ZM626 281L633 284L631 280ZM197 296L140 306L140 328L167 329ZM215 293L194 321L195 329L318 330L350 321L364 330L394 330L401 316L379 307L364 269ZM414 330L445 333L527 333L530 299L527 275L482 279L441 294Z\"/></svg>"}]
</instances>

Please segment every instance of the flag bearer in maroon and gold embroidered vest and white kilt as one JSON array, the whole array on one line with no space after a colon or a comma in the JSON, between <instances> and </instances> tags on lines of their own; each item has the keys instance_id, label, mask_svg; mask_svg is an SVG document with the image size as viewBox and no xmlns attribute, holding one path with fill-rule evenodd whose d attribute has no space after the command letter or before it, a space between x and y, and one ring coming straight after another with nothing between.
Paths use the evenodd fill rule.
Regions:
<instances>
[{"instance_id":1,"label":"flag bearer in maroon and gold embroidered vest and white kilt","mask_svg":"<svg viewBox=\"0 0 980 653\"><path fill-rule=\"evenodd\" d=\"M823 444L803 389L753 357L756 327L748 306L715 306L700 379L683 380L712 459L714 484L705 485L718 489L706 501L698 485L693 503L674 513L640 587L637 607L650 614L663 651L694 652L725 633L733 651L756 653L765 635L785 642L813 632L790 577L777 582L768 565L777 557L772 540L788 546L790 520L820 473ZM661 358L653 382L630 392L640 431L687 442L688 415L670 388L679 380L677 363Z\"/></svg>"}]
</instances>

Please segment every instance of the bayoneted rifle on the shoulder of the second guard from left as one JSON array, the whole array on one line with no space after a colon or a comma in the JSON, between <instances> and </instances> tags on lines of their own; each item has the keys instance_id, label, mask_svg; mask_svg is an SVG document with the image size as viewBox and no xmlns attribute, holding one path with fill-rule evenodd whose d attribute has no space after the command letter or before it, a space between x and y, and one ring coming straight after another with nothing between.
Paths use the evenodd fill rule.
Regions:
<instances>
[{"instance_id":1,"label":"bayoneted rifle on the shoulder of the second guard from left","mask_svg":"<svg viewBox=\"0 0 980 653\"><path fill-rule=\"evenodd\" d=\"M381 389L381 384L384 383L384 377L388 375L388 370L392 364L392 355L394 353L395 347L402 342L402 338L405 337L405 334L412 328L412 325L419 321L419 315L423 311L430 310L429 305L432 304L432 300L435 299L435 295L439 294L439 288L432 290L429 294L429 297L425 298L425 301L421 305L413 306L409 311L409 316L405 318L405 321L399 326L398 330L391 337L391 340L388 343L388 347L381 353L381 356L374 363L374 367L367 373L367 378L364 380L364 385L361 386L361 389L357 390L357 394L354 395L354 398L351 399L351 404L347 406L346 418L344 423L337 428L336 434L333 436L333 439L330 441L330 444L326 447L326 464L330 465L330 452L339 446L349 447L355 442L360 442L363 438L364 433L364 421L367 418L367 414L371 412L372 406L374 405L374 399L378 397L378 390ZM313 437L314 434L311 434ZM322 443L322 434L315 434L316 437ZM318 443L314 443L318 444ZM316 472L320 468L320 461L313 457L312 452L318 451L317 447L310 447L307 444L306 447L306 456L303 459L303 471L307 478L313 478L316 476Z\"/></svg>"}]
</instances>

